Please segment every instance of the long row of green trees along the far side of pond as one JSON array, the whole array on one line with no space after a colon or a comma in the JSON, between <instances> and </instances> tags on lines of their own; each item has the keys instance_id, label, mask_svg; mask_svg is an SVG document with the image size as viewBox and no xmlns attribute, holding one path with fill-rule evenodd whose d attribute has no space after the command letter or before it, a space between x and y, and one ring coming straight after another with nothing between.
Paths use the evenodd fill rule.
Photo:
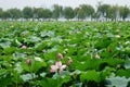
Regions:
<instances>
[{"instance_id":1,"label":"long row of green trees along the far side of pond","mask_svg":"<svg viewBox=\"0 0 130 87\"><path fill-rule=\"evenodd\" d=\"M126 21L130 17L130 8L127 5L110 5L99 3L96 9L90 4L80 4L77 8L62 7L53 4L52 9L25 7L23 10L17 8L2 10L0 8L1 21L58 21L60 18L67 21Z\"/></svg>"}]
</instances>

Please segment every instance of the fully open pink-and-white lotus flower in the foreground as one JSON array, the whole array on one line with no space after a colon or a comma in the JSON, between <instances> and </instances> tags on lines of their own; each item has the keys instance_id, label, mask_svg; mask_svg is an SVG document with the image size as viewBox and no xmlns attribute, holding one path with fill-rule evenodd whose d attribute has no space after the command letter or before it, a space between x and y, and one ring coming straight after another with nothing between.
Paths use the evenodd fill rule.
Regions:
<instances>
[{"instance_id":1,"label":"fully open pink-and-white lotus flower in the foreground","mask_svg":"<svg viewBox=\"0 0 130 87\"><path fill-rule=\"evenodd\" d=\"M51 65L50 72L51 72L51 73L62 72L64 69L66 69L66 65L62 65L62 62L61 62L61 61L57 61L57 62L55 63L55 65Z\"/></svg>"}]
</instances>

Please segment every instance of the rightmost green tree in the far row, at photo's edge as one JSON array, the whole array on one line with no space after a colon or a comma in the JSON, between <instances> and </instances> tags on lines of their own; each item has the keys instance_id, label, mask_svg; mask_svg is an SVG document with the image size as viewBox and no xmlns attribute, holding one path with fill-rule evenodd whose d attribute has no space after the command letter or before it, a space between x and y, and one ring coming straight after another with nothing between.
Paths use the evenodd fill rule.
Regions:
<instances>
[{"instance_id":1,"label":"rightmost green tree in the far row, at photo's edge","mask_svg":"<svg viewBox=\"0 0 130 87\"><path fill-rule=\"evenodd\" d=\"M127 5L119 8L119 15L123 21L128 17L129 14L130 14L130 10Z\"/></svg>"}]
</instances>

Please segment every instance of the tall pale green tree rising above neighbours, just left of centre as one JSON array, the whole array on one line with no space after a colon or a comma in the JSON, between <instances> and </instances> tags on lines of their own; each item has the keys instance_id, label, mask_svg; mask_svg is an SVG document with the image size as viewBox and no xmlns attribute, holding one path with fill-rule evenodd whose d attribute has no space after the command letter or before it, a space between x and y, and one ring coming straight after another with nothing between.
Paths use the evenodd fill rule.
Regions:
<instances>
[{"instance_id":1,"label":"tall pale green tree rising above neighbours, just left of centre","mask_svg":"<svg viewBox=\"0 0 130 87\"><path fill-rule=\"evenodd\" d=\"M52 17L55 18L56 21L62 14L62 9L63 9L63 7L61 7L58 4L53 5Z\"/></svg>"}]
</instances>

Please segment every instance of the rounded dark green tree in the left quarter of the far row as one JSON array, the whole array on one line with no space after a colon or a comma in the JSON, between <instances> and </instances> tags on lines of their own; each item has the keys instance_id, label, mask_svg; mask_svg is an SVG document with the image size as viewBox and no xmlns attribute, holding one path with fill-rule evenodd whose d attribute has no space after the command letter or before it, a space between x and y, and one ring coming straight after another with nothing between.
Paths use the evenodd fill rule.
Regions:
<instances>
[{"instance_id":1,"label":"rounded dark green tree in the left quarter of the far row","mask_svg":"<svg viewBox=\"0 0 130 87\"><path fill-rule=\"evenodd\" d=\"M34 13L34 12L32 12L32 9L29 8L29 7L25 7L25 8L23 9L23 17L26 18L26 20L31 18L32 15L34 15L32 13Z\"/></svg>"}]
</instances>

